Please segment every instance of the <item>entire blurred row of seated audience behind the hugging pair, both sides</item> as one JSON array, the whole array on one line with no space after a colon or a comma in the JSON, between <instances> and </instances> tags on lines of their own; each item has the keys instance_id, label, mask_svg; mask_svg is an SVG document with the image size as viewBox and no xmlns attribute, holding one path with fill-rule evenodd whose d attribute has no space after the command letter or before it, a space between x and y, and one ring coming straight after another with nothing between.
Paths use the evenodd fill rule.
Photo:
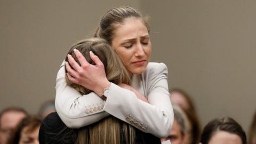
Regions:
<instances>
[{"instance_id":1,"label":"entire blurred row of seated audience behind the hugging pair, both sides","mask_svg":"<svg viewBox=\"0 0 256 144\"><path fill-rule=\"evenodd\" d=\"M231 117L215 118L202 127L192 99L181 89L170 91L174 123L169 136L161 139L162 143L256 144L256 111L246 137L242 126ZM0 144L39 143L38 132L42 119L54 111L54 100L43 103L36 116L19 107L3 109L0 113Z\"/></svg>"}]
</instances>

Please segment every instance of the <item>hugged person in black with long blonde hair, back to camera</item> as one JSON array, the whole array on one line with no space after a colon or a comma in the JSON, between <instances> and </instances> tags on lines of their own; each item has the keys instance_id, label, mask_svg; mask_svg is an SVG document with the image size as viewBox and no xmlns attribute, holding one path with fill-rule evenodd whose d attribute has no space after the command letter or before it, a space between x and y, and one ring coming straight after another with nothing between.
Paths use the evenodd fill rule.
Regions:
<instances>
[{"instance_id":1,"label":"hugged person in black with long blonde hair, back to camera","mask_svg":"<svg viewBox=\"0 0 256 144\"><path fill-rule=\"evenodd\" d=\"M97 55L105 67L108 81L114 84L130 84L130 76L124 68L121 59L119 59L118 55L104 39L85 39L72 46L68 54L72 55L78 62L74 49L80 51L91 65L95 65L95 63L90 58L89 53L93 52L93 54ZM68 56L66 61L67 59ZM66 81L67 85L74 87L81 94L92 92L81 85L71 83L67 77ZM83 97L86 97L86 95ZM102 105L98 105L97 107L86 109L88 110L86 113L93 113L102 108ZM53 119L56 116L56 113L52 113L44 119L39 132L40 143L161 143L160 139L154 135L143 133L114 116L108 116L97 123L81 127L80 129L69 129L62 122L59 122L59 126L54 125L54 127L46 125L60 121L59 118ZM133 119L132 117L127 118ZM135 122L135 120L134 123L137 123L138 126L140 125L140 122ZM53 131L57 132L57 134L54 135L55 138L51 139L49 138L51 136L47 133Z\"/></svg>"}]
</instances>

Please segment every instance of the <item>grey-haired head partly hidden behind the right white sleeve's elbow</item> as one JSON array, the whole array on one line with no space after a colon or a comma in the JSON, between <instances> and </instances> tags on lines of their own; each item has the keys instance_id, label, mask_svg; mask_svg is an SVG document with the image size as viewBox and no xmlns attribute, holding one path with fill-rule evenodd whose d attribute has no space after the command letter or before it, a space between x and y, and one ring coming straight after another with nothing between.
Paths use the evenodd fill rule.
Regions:
<instances>
[{"instance_id":1,"label":"grey-haired head partly hidden behind the right white sleeve's elbow","mask_svg":"<svg viewBox=\"0 0 256 144\"><path fill-rule=\"evenodd\" d=\"M173 105L174 122L172 130L168 137L162 138L161 141L170 140L172 144L185 144L187 137L188 118L178 105Z\"/></svg>"}]
</instances>

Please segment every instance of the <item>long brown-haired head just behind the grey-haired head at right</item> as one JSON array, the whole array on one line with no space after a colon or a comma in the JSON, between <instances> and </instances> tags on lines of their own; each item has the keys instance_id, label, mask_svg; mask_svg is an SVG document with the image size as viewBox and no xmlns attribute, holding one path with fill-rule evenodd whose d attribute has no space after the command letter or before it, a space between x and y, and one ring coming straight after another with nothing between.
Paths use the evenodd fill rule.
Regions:
<instances>
[{"instance_id":1,"label":"long brown-haired head just behind the grey-haired head at right","mask_svg":"<svg viewBox=\"0 0 256 144\"><path fill-rule=\"evenodd\" d=\"M188 117L188 135L185 143L198 143L201 134L201 125L190 95L182 89L172 89L170 90L170 99L174 105L180 106Z\"/></svg>"}]
</instances>

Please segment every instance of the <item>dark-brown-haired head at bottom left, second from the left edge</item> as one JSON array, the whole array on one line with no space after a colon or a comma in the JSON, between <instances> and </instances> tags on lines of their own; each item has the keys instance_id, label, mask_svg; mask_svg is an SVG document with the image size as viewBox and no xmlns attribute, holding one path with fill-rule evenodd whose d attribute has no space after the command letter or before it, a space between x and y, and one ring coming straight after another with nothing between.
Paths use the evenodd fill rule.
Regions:
<instances>
[{"instance_id":1,"label":"dark-brown-haired head at bottom left, second from the left edge","mask_svg":"<svg viewBox=\"0 0 256 144\"><path fill-rule=\"evenodd\" d=\"M27 116L13 130L8 144L38 144L41 121L35 116Z\"/></svg>"}]
</instances>

